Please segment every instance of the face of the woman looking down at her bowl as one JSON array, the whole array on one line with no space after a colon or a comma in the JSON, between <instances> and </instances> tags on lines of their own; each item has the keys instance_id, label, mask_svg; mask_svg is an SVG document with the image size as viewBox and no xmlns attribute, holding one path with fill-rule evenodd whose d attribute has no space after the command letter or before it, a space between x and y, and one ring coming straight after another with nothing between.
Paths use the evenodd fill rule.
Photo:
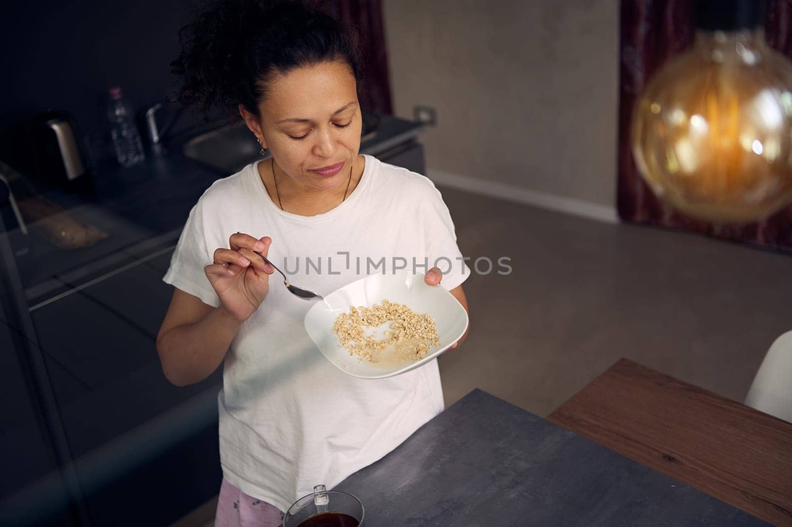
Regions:
<instances>
[{"instance_id":1,"label":"face of the woman looking down at her bowl","mask_svg":"<svg viewBox=\"0 0 792 527\"><path fill-rule=\"evenodd\" d=\"M295 183L320 191L347 184L363 126L349 66L319 63L278 75L258 109L261 119L242 115Z\"/></svg>"}]
</instances>

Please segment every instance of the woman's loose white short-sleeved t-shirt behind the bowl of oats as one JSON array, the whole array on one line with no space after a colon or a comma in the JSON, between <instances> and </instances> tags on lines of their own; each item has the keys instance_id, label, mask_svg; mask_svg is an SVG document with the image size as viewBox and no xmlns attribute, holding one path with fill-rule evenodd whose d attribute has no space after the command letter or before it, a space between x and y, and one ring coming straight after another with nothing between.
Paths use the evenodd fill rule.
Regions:
<instances>
[{"instance_id":1,"label":"woman's loose white short-sleeved t-shirt behind the bowl of oats","mask_svg":"<svg viewBox=\"0 0 792 527\"><path fill-rule=\"evenodd\" d=\"M204 266L241 232L271 237L272 263L290 283L318 294L378 272L412 271L413 262L420 273L440 267L441 286L459 286L470 268L440 191L425 176L364 157L354 191L315 216L272 202L258 174L261 161L215 181L190 211L165 282L219 305ZM314 485L332 488L379 460L444 408L436 361L380 380L337 370L303 327L312 305L289 293L277 272L270 275L267 298L223 363L223 476L281 510Z\"/></svg>"}]
</instances>

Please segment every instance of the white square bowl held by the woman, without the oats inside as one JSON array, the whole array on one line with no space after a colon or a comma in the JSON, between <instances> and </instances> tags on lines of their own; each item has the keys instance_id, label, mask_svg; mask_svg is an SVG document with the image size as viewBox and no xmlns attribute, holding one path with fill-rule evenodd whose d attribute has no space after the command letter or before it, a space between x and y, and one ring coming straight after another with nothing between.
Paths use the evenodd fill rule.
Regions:
<instances>
[{"instance_id":1,"label":"white square bowl held by the woman, without the oats inside","mask_svg":"<svg viewBox=\"0 0 792 527\"><path fill-rule=\"evenodd\" d=\"M415 313L428 313L435 320L440 346L432 346L420 361L397 366L378 366L360 362L349 354L333 333L333 324L349 308L371 307L387 300L404 304ZM467 312L462 304L443 286L428 286L424 275L397 271L391 275L370 275L356 280L327 295L306 313L305 330L327 360L339 370L361 379L384 379L413 370L436 358L459 340L467 329Z\"/></svg>"}]
</instances>

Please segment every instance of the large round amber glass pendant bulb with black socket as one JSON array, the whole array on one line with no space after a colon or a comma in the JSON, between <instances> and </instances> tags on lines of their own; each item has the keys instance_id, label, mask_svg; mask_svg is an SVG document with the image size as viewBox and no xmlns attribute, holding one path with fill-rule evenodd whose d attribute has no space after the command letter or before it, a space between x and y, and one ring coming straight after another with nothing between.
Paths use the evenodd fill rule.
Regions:
<instances>
[{"instance_id":1,"label":"large round amber glass pendant bulb with black socket","mask_svg":"<svg viewBox=\"0 0 792 527\"><path fill-rule=\"evenodd\" d=\"M762 21L760 0L699 0L693 46L635 105L639 172L692 218L753 222L792 201L792 64Z\"/></svg>"}]
</instances>

